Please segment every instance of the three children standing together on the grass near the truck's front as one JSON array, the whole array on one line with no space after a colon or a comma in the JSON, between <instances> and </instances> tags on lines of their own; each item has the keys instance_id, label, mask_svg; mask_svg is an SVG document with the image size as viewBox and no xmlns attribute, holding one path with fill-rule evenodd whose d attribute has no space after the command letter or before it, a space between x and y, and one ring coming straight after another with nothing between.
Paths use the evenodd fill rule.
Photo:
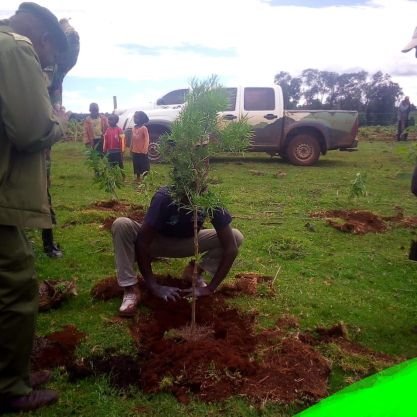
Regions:
<instances>
[{"instance_id":1,"label":"three children standing together on the grass near the truck's front","mask_svg":"<svg viewBox=\"0 0 417 417\"><path fill-rule=\"evenodd\" d=\"M130 152L132 154L133 172L138 182L150 170L148 158L149 132L146 123L149 118L143 111L135 112L135 126L130 137ZM90 115L84 121L84 144L94 148L101 156L106 155L111 165L124 169L123 153L126 140L123 130L117 126L119 116L111 114L106 117L99 113L97 103L90 104Z\"/></svg>"}]
</instances>

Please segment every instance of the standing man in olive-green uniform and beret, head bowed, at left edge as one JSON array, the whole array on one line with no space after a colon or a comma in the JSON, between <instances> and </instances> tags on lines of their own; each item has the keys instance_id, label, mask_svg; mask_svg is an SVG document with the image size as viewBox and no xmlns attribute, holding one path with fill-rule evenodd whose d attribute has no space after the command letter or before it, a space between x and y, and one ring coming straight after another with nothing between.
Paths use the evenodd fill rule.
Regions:
<instances>
[{"instance_id":1,"label":"standing man in olive-green uniform and beret, head bowed, at left edge","mask_svg":"<svg viewBox=\"0 0 417 417\"><path fill-rule=\"evenodd\" d=\"M51 227L45 149L63 127L42 68L55 65L67 47L55 15L36 3L22 3L0 21L0 412L35 410L58 399L39 390L45 379L31 379L29 370L38 284L24 228Z\"/></svg>"}]
</instances>

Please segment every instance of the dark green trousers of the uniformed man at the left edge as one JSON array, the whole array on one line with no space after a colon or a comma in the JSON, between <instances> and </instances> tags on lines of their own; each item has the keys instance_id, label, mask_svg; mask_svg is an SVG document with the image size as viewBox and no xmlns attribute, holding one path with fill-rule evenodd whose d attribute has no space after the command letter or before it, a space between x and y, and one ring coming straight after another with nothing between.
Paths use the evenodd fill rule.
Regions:
<instances>
[{"instance_id":1,"label":"dark green trousers of the uniformed man at the left edge","mask_svg":"<svg viewBox=\"0 0 417 417\"><path fill-rule=\"evenodd\" d=\"M0 225L0 398L28 394L38 311L34 256L23 230Z\"/></svg>"}]
</instances>

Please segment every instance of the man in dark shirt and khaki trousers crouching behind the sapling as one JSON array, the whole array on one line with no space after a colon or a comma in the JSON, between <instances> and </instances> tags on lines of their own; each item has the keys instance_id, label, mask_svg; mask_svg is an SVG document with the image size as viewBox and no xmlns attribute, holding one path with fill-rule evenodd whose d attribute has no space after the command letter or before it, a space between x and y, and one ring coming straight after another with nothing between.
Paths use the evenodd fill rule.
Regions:
<instances>
[{"instance_id":1,"label":"man in dark shirt and khaki trousers crouching behind the sapling","mask_svg":"<svg viewBox=\"0 0 417 417\"><path fill-rule=\"evenodd\" d=\"M127 217L119 217L112 225L117 280L124 289L123 302L119 309L121 316L136 313L140 295L134 263L149 290L159 298L176 300L180 298L178 288L159 285L152 272L152 259L158 257L186 258L194 256L193 213L177 204L172 198L170 187L161 187L153 196L142 224ZM187 199L183 197L184 201ZM202 229L207 213L198 213L198 246L203 254L198 265L196 295L211 295L229 273L238 255L243 235L230 226L232 217L226 209L215 209L210 221L214 229ZM190 266L184 275L190 276ZM210 283L204 282L202 273L212 276Z\"/></svg>"}]
</instances>

